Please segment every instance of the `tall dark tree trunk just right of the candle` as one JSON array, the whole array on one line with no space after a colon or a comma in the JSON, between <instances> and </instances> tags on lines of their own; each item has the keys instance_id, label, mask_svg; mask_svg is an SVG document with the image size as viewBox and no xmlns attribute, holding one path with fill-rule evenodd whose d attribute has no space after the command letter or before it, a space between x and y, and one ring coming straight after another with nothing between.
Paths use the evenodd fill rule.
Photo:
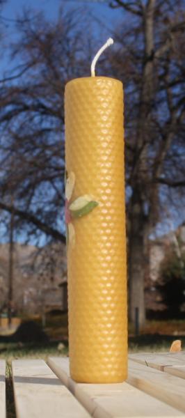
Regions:
<instances>
[{"instance_id":1,"label":"tall dark tree trunk just right of the candle","mask_svg":"<svg viewBox=\"0 0 185 418\"><path fill-rule=\"evenodd\" d=\"M136 308L139 314L139 326L145 325L145 254L146 236L148 233L148 215L145 215L143 202L147 202L147 139L152 98L154 95L154 4L148 0L143 11L143 28L145 35L145 59L143 65L143 83L138 104L138 125L136 141L136 164L131 179L132 196L129 205L129 319L134 323Z\"/></svg>"}]
</instances>

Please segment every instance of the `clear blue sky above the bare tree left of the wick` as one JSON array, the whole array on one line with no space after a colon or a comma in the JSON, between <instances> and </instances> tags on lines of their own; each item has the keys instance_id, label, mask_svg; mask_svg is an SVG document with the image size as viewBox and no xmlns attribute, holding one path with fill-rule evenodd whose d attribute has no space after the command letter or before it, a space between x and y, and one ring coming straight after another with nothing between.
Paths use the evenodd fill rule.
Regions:
<instances>
[{"instance_id":1,"label":"clear blue sky above the bare tree left of the wick","mask_svg":"<svg viewBox=\"0 0 185 418\"><path fill-rule=\"evenodd\" d=\"M31 8L34 13L42 11L48 20L55 20L61 7L65 12L81 8L87 13L93 33L95 36L98 33L99 45L97 45L97 49L104 44L106 38L113 37L113 27L117 22L119 24L123 17L122 9L111 9L108 7L108 2L102 0L7 0L1 11L3 17L3 20L1 20L3 22L3 24L1 23L3 47L1 47L0 75L7 69L10 70L7 45L16 38L15 20L22 14L22 10ZM79 13L77 18L79 19Z\"/></svg>"}]
</instances>

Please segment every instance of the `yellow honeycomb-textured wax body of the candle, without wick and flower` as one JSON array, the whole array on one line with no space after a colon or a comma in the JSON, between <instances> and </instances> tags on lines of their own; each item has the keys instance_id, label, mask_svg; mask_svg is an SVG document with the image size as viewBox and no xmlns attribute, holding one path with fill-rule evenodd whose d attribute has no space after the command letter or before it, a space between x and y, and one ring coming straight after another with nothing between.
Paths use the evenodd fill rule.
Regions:
<instances>
[{"instance_id":1,"label":"yellow honeycomb-textured wax body of the candle, without wick and flower","mask_svg":"<svg viewBox=\"0 0 185 418\"><path fill-rule=\"evenodd\" d=\"M70 373L77 382L127 378L127 276L122 83L74 79L65 88L66 169L71 201L99 205L72 219L67 248Z\"/></svg>"}]
</instances>

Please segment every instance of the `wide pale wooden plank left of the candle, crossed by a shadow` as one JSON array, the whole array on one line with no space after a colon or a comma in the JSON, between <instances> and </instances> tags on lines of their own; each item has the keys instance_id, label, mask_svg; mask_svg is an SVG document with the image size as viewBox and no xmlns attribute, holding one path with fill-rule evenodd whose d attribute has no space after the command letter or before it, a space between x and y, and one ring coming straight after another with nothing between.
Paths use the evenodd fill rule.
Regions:
<instances>
[{"instance_id":1,"label":"wide pale wooden plank left of the candle, crossed by a shadow","mask_svg":"<svg viewBox=\"0 0 185 418\"><path fill-rule=\"evenodd\" d=\"M43 360L14 360L17 418L87 418L88 412Z\"/></svg>"}]
</instances>

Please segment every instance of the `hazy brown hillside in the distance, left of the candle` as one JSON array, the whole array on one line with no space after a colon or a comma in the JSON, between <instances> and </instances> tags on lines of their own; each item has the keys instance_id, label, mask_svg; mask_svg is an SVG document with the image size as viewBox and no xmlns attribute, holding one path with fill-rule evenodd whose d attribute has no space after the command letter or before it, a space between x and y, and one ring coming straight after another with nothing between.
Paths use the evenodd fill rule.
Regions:
<instances>
[{"instance_id":1,"label":"hazy brown hillside in the distance, left of the candle","mask_svg":"<svg viewBox=\"0 0 185 418\"><path fill-rule=\"evenodd\" d=\"M6 309L8 297L9 245L0 245L0 309ZM46 293L61 300L58 284L66 281L65 246L61 243L42 249L32 245L14 245L13 310L40 311Z\"/></svg>"}]
</instances>

